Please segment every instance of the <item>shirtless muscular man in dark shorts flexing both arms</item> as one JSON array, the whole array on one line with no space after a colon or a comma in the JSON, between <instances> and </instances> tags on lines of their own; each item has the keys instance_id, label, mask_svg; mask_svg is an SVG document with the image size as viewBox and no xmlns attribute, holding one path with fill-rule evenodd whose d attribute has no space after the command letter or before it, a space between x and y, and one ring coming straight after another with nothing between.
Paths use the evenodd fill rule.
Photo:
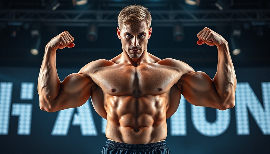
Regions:
<instances>
[{"instance_id":1,"label":"shirtless muscular man in dark shorts flexing both arms","mask_svg":"<svg viewBox=\"0 0 270 154\"><path fill-rule=\"evenodd\" d=\"M96 112L107 119L102 153L170 153L166 119L177 110L181 94L196 106L220 110L234 107L236 77L227 41L209 28L199 32L198 45L216 45L214 79L186 63L159 59L147 51L152 17L143 6L131 5L118 16L122 53L111 60L88 63L63 82L55 65L56 50L74 47L64 31L46 45L39 73L40 109L55 112L83 105L91 96ZM167 52L167 51L166 51Z\"/></svg>"}]
</instances>

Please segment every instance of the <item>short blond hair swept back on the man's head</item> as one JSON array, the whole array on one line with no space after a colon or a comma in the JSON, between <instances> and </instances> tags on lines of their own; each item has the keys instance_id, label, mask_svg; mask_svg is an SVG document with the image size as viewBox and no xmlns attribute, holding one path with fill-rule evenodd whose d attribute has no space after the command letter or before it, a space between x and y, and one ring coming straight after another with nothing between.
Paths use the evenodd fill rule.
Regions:
<instances>
[{"instance_id":1,"label":"short blond hair swept back on the man's head","mask_svg":"<svg viewBox=\"0 0 270 154\"><path fill-rule=\"evenodd\" d=\"M150 28L152 16L147 8L141 5L127 6L118 15L118 26L120 29L122 25L131 26L141 21L146 21L148 29Z\"/></svg>"}]
</instances>

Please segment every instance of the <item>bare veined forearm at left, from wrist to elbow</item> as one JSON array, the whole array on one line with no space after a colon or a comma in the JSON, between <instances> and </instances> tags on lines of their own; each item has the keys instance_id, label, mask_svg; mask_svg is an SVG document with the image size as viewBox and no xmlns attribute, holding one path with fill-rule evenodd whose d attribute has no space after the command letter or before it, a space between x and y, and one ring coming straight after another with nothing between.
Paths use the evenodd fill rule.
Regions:
<instances>
[{"instance_id":1,"label":"bare veined forearm at left, from wrist to elbow","mask_svg":"<svg viewBox=\"0 0 270 154\"><path fill-rule=\"evenodd\" d=\"M38 79L38 94L40 108L51 108L53 100L58 96L61 81L58 77L56 64L56 49L46 45Z\"/></svg>"}]
</instances>

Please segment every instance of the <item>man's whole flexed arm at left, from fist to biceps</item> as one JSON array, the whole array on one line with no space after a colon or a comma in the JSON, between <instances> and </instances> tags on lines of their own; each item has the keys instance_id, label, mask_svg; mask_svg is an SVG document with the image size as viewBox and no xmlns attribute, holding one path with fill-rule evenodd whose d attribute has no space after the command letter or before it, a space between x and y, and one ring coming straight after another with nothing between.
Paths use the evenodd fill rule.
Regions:
<instances>
[{"instance_id":1,"label":"man's whole flexed arm at left, from fist to biceps","mask_svg":"<svg viewBox=\"0 0 270 154\"><path fill-rule=\"evenodd\" d=\"M60 81L56 70L56 50L74 47L74 38L64 31L46 45L39 72L38 93L40 109L55 112L83 105L90 97L95 83L89 76L74 73Z\"/></svg>"}]
</instances>

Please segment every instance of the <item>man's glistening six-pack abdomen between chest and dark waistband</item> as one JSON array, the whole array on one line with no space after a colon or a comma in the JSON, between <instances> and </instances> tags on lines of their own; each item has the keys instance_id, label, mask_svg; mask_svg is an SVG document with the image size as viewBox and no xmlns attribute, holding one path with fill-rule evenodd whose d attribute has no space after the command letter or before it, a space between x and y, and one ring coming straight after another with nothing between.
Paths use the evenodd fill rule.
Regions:
<instances>
[{"instance_id":1,"label":"man's glistening six-pack abdomen between chest and dark waistband","mask_svg":"<svg viewBox=\"0 0 270 154\"><path fill-rule=\"evenodd\" d=\"M146 144L165 140L166 94L141 97L105 96L106 137L121 143Z\"/></svg>"}]
</instances>

